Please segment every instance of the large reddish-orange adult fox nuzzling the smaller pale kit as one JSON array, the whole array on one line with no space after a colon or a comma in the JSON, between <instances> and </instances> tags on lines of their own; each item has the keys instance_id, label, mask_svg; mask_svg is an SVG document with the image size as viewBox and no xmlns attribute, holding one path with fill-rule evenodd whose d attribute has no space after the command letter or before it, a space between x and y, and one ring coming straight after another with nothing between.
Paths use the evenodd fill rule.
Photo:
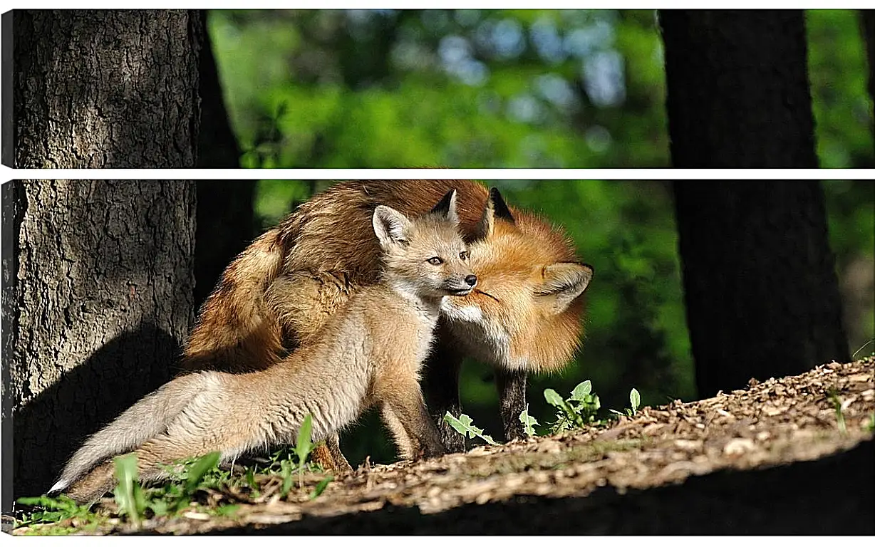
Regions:
<instances>
[{"instance_id":1,"label":"large reddish-orange adult fox nuzzling the smaller pale kit","mask_svg":"<svg viewBox=\"0 0 875 547\"><path fill-rule=\"evenodd\" d=\"M377 280L381 249L368 234L374 207L422 214L452 187L460 229L476 244L471 264L479 284L444 305L426 368L429 408L444 445L463 450L464 440L440 418L460 410L459 365L471 356L495 368L505 437L521 437L527 374L570 361L592 269L559 229L472 181L346 181L314 196L228 266L201 308L183 367L269 368L307 347L350 295ZM329 449L318 452L325 463L338 459L336 444Z\"/></svg>"}]
</instances>

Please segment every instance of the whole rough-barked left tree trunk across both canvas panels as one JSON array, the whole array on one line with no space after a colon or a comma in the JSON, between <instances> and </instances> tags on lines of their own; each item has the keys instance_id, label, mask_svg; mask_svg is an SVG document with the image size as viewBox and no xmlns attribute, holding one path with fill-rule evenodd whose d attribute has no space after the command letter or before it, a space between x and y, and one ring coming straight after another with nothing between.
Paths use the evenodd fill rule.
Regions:
<instances>
[{"instance_id":1,"label":"whole rough-barked left tree trunk across both canvas panels","mask_svg":"<svg viewBox=\"0 0 875 547\"><path fill-rule=\"evenodd\" d=\"M193 167L198 11L14 11L14 164ZM4 508L165 382L193 319L190 182L4 186ZM11 480L10 480L11 477Z\"/></svg>"}]
</instances>

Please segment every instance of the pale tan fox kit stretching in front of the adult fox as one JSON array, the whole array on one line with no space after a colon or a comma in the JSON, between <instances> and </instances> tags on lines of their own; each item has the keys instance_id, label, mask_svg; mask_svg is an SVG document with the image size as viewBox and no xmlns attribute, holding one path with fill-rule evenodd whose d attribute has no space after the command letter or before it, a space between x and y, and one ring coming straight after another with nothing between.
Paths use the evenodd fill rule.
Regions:
<instances>
[{"instance_id":1,"label":"pale tan fox kit stretching in front of the adult fox","mask_svg":"<svg viewBox=\"0 0 875 547\"><path fill-rule=\"evenodd\" d=\"M200 371L166 383L116 418L67 463L52 491L92 501L113 487L112 458L137 455L142 480L166 476L179 459L290 444L307 414L312 436L336 437L371 405L408 457L444 453L419 388L446 298L468 295L477 277L458 234L456 192L408 220L375 207L378 283L356 291L310 343L275 366L245 374Z\"/></svg>"}]
</instances>

